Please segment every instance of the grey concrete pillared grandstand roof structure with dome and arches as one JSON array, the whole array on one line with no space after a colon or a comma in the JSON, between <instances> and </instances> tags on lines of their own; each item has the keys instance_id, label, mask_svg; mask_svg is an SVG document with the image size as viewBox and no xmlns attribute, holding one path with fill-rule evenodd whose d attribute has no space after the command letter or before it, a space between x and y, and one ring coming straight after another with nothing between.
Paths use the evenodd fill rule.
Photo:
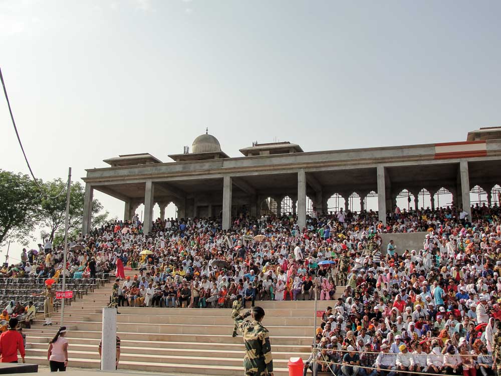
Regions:
<instances>
[{"instance_id":1,"label":"grey concrete pillared grandstand roof structure with dome and arches","mask_svg":"<svg viewBox=\"0 0 501 376\"><path fill-rule=\"evenodd\" d=\"M406 189L417 198L422 189L431 196L446 189L458 208L470 211L470 187L479 185L491 203L491 190L501 183L501 127L468 132L466 141L359 149L303 151L291 142L257 143L240 149L243 156L229 157L216 137L196 137L182 154L168 155L162 162L148 153L105 159L105 168L87 170L83 231L90 227L90 203L98 190L125 203L124 219L130 219L144 204L144 231L150 230L153 206L161 218L169 203L179 218L222 216L224 229L231 217L242 211L260 216L270 210L268 198L281 213L281 202L292 199L292 211L301 227L306 224L307 197L319 213L327 213L333 194L348 198L378 196L379 219L396 206L396 197ZM417 199L415 199L417 207Z\"/></svg>"}]
</instances>

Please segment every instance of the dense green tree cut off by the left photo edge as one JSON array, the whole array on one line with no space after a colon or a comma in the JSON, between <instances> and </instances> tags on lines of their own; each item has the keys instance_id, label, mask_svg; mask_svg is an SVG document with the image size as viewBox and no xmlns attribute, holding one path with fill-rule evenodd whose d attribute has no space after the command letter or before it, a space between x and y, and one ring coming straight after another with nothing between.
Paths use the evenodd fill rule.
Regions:
<instances>
[{"instance_id":1,"label":"dense green tree cut off by the left photo edge","mask_svg":"<svg viewBox=\"0 0 501 376\"><path fill-rule=\"evenodd\" d=\"M0 170L0 246L9 240L28 244L40 204L41 193L28 175Z\"/></svg>"}]
</instances>

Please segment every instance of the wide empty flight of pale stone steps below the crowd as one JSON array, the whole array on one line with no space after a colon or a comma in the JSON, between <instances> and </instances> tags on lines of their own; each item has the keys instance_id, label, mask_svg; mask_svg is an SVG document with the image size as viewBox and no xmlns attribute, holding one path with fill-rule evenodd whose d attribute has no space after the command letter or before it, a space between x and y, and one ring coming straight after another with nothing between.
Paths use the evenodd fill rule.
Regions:
<instances>
[{"instance_id":1,"label":"wide empty flight of pale stone steps below the crowd","mask_svg":"<svg viewBox=\"0 0 501 376\"><path fill-rule=\"evenodd\" d=\"M126 271L126 275L133 274ZM65 308L69 366L100 368L101 312L109 303L112 284L105 284ZM338 287L336 298L342 290L344 288ZM275 374L286 376L290 357L305 360L310 355L314 302L260 301L256 304L266 311L263 324L270 330ZM327 305L329 302L319 301L317 309L325 309ZM218 376L241 374L244 346L240 335L231 336L230 309L120 307L119 311L119 369ZM48 342L60 326L60 316L58 312L53 315L53 326L43 326L41 317L31 329L24 329L27 362L49 363Z\"/></svg>"}]
</instances>

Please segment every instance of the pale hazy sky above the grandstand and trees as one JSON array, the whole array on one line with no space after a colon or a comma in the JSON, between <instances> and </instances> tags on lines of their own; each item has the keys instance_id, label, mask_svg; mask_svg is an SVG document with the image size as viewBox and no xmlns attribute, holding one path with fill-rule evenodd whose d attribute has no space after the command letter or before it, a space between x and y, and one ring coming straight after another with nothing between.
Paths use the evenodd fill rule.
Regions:
<instances>
[{"instance_id":1,"label":"pale hazy sky above the grandstand and trees","mask_svg":"<svg viewBox=\"0 0 501 376\"><path fill-rule=\"evenodd\" d=\"M305 151L499 125L498 1L0 0L0 64L38 177L169 161L203 133ZM0 168L28 172L0 100ZM123 203L96 193L112 215Z\"/></svg>"}]
</instances>

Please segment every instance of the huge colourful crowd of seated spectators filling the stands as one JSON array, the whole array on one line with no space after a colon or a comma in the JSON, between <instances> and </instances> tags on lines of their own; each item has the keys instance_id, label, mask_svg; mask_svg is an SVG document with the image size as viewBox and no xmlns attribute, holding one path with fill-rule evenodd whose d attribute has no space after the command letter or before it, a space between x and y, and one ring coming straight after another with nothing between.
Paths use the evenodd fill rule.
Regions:
<instances>
[{"instance_id":1,"label":"huge colourful crowd of seated spectators filling the stands","mask_svg":"<svg viewBox=\"0 0 501 376\"><path fill-rule=\"evenodd\" d=\"M486 376L501 364L500 214L485 205L471 218L454 208L396 208L384 225L372 211L314 210L303 229L293 214L242 214L229 230L217 218L157 219L148 234L136 215L72 240L66 267L76 278L115 274L118 306L229 308L241 296L249 307L316 291L328 308L305 372L318 362L345 376ZM390 243L380 251L381 234L416 231L427 232L418 249ZM0 276L57 279L62 254L46 242ZM346 286L339 299L337 286Z\"/></svg>"}]
</instances>

